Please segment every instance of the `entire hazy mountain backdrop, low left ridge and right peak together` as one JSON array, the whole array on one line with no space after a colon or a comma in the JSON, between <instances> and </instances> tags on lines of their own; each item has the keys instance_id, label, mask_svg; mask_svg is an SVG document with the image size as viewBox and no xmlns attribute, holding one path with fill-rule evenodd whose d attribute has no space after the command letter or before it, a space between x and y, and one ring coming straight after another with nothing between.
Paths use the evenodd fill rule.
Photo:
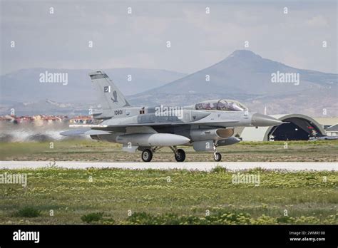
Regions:
<instances>
[{"instance_id":1,"label":"entire hazy mountain backdrop, low left ridge and right peak together","mask_svg":"<svg viewBox=\"0 0 338 248\"><path fill-rule=\"evenodd\" d=\"M39 74L46 71L68 73L68 84L40 83ZM92 70L34 68L1 76L0 114L9 113L10 108L17 115L88 113L88 108L97 106L89 71ZM133 105L190 105L225 98L240 100L260 113L267 107L268 114L338 116L337 74L293 68L247 50L234 51L188 76L138 68L104 71L129 95L128 101ZM127 80L128 75L132 81ZM283 82L282 76L289 80Z\"/></svg>"}]
</instances>

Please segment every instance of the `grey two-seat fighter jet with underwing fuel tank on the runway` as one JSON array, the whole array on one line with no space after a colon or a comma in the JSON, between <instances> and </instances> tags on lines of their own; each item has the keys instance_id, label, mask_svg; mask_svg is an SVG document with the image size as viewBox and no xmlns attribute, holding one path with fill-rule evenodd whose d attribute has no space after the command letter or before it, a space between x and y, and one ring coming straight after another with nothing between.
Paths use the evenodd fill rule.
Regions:
<instances>
[{"instance_id":1,"label":"grey two-seat fighter jet with underwing fuel tank on the runway","mask_svg":"<svg viewBox=\"0 0 338 248\"><path fill-rule=\"evenodd\" d=\"M251 113L236 100L205 100L195 105L132 107L103 71L89 73L100 110L94 110L96 125L81 126L61 135L90 135L94 140L122 144L122 150L141 151L144 162L150 162L160 148L173 150L175 160L183 162L185 151L178 146L193 146L195 151L213 153L213 159L222 156L217 147L241 141L234 137L235 127L275 126L283 122L260 113Z\"/></svg>"}]
</instances>

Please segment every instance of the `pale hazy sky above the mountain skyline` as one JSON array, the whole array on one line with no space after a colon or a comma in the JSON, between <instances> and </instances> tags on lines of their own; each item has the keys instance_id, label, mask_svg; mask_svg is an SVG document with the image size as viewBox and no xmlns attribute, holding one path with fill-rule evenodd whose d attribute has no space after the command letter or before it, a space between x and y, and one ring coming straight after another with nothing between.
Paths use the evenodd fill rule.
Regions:
<instances>
[{"instance_id":1,"label":"pale hazy sky above the mountain skyline","mask_svg":"<svg viewBox=\"0 0 338 248\"><path fill-rule=\"evenodd\" d=\"M245 41L264 58L338 72L334 0L0 1L1 74L34 67L193 73Z\"/></svg>"}]
</instances>

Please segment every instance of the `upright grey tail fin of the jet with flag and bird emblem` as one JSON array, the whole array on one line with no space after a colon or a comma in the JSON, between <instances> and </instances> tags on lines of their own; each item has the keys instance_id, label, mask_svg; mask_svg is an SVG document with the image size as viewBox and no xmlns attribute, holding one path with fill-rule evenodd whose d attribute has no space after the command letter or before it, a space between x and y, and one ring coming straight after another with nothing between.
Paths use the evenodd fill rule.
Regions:
<instances>
[{"instance_id":1,"label":"upright grey tail fin of the jet with flag and bird emblem","mask_svg":"<svg viewBox=\"0 0 338 248\"><path fill-rule=\"evenodd\" d=\"M103 110L130 106L125 96L118 90L113 81L108 78L106 73L103 71L95 71L89 73L89 76L96 88L98 100Z\"/></svg>"}]
</instances>

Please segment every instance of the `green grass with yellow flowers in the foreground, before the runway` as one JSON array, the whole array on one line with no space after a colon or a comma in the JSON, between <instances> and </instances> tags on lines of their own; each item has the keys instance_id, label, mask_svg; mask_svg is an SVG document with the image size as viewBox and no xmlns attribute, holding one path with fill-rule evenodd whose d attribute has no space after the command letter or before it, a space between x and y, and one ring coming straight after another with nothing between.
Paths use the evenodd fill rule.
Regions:
<instances>
[{"instance_id":1,"label":"green grass with yellow flowers in the foreground, before the runway","mask_svg":"<svg viewBox=\"0 0 338 248\"><path fill-rule=\"evenodd\" d=\"M0 224L338 224L338 172L240 172L259 186L219 167L6 172L28 184L0 185Z\"/></svg>"}]
</instances>

